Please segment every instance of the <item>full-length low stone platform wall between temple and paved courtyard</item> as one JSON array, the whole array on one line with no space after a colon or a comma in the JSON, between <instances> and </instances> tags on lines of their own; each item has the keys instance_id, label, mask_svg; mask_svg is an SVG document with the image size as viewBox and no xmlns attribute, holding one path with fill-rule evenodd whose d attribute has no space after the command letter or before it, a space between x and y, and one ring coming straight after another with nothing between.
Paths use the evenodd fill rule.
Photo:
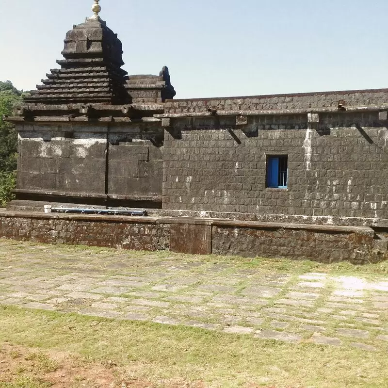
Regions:
<instances>
[{"instance_id":1,"label":"full-length low stone platform wall between temple and paved courtyard","mask_svg":"<svg viewBox=\"0 0 388 388\"><path fill-rule=\"evenodd\" d=\"M369 227L194 217L0 211L0 238L191 254L285 257L320 262L347 260L355 264L388 259L387 246L376 244L374 231Z\"/></svg>"}]
</instances>

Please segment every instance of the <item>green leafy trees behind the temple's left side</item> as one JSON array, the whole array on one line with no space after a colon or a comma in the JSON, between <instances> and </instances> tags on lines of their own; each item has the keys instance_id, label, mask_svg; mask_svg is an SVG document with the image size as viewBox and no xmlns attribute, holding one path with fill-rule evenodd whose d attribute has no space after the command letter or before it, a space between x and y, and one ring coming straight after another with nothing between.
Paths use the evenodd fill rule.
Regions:
<instances>
[{"instance_id":1,"label":"green leafy trees behind the temple's left side","mask_svg":"<svg viewBox=\"0 0 388 388\"><path fill-rule=\"evenodd\" d=\"M13 104L21 98L11 81L0 81L0 206L12 199L15 187L17 134L15 127L5 122L2 115L12 113Z\"/></svg>"}]
</instances>

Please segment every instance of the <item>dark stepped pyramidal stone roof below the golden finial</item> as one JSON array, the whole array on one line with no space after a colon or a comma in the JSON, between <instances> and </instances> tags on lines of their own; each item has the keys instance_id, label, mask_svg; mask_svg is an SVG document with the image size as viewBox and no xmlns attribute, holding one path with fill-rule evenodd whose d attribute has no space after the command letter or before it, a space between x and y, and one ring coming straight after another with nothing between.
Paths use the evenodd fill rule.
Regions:
<instances>
[{"instance_id":1,"label":"dark stepped pyramidal stone roof below the golden finial","mask_svg":"<svg viewBox=\"0 0 388 388\"><path fill-rule=\"evenodd\" d=\"M131 103L122 43L99 16L67 32L61 69L51 69L25 102L34 104Z\"/></svg>"}]
</instances>

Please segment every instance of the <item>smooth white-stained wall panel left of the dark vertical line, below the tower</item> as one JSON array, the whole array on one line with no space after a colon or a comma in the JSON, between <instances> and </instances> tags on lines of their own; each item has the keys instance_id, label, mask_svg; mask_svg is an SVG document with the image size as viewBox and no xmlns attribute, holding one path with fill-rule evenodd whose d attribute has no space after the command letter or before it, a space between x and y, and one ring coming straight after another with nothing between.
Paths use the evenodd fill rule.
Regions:
<instances>
[{"instance_id":1,"label":"smooth white-stained wall panel left of the dark vertical line, below the tower","mask_svg":"<svg viewBox=\"0 0 388 388\"><path fill-rule=\"evenodd\" d=\"M18 129L18 189L105 193L106 134L34 129Z\"/></svg>"}]
</instances>

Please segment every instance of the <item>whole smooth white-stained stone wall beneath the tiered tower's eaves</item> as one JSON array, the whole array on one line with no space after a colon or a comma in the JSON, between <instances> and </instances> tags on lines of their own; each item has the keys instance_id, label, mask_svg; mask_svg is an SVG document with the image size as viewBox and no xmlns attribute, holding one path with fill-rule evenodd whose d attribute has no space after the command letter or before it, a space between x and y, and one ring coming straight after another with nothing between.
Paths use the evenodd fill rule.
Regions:
<instances>
[{"instance_id":1,"label":"whole smooth white-stained stone wall beneath the tiered tower's eaves","mask_svg":"<svg viewBox=\"0 0 388 388\"><path fill-rule=\"evenodd\" d=\"M108 194L114 199L140 200L158 197L160 202L162 131L160 126L146 127L144 134L139 125L17 126L17 189L29 192L28 199L37 200L39 197L31 194L68 198L103 198Z\"/></svg>"}]
</instances>

